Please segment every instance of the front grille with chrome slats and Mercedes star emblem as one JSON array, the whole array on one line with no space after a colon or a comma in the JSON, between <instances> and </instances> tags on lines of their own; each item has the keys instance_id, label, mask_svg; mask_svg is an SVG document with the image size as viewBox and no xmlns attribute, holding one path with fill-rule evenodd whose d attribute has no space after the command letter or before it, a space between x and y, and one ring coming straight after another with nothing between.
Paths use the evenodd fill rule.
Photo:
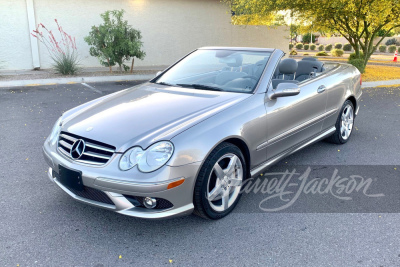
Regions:
<instances>
[{"instance_id":1,"label":"front grille with chrome slats and Mercedes star emblem","mask_svg":"<svg viewBox=\"0 0 400 267\"><path fill-rule=\"evenodd\" d=\"M78 159L74 159L71 157L71 149L75 141L80 139L85 142L85 149L82 156ZM114 155L115 147L75 134L61 132L58 138L58 151L60 151L62 155L80 163L104 165Z\"/></svg>"}]
</instances>

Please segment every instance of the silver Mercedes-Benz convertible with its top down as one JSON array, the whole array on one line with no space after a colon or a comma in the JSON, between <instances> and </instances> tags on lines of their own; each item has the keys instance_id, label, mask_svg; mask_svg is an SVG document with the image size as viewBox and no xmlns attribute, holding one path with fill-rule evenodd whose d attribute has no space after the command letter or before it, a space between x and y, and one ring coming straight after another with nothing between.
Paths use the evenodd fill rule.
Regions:
<instances>
[{"instance_id":1,"label":"silver Mercedes-Benz convertible with its top down","mask_svg":"<svg viewBox=\"0 0 400 267\"><path fill-rule=\"evenodd\" d=\"M284 55L200 48L149 82L65 112L43 146L50 180L134 217L226 216L246 178L321 139L351 136L359 71Z\"/></svg>"}]
</instances>

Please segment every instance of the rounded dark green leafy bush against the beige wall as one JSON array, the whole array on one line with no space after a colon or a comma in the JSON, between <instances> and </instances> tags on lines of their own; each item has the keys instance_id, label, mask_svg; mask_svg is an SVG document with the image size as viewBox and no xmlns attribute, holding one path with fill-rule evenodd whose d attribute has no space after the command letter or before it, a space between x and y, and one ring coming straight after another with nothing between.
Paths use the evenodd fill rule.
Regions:
<instances>
[{"instance_id":1,"label":"rounded dark green leafy bush against the beige wall","mask_svg":"<svg viewBox=\"0 0 400 267\"><path fill-rule=\"evenodd\" d=\"M90 55L97 57L100 64L109 67L118 64L120 71L129 70L125 61L132 58L131 73L135 57L144 59L146 53L142 50L143 43L140 31L128 25L127 20L123 20L124 10L106 11L100 16L103 24L92 26L89 36L85 37L90 47Z\"/></svg>"}]
</instances>

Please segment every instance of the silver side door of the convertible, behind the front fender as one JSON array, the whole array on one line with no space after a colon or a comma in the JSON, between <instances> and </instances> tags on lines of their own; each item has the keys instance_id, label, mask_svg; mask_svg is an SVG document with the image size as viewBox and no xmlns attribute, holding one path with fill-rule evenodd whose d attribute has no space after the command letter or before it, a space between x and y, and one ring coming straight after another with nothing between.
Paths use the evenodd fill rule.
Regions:
<instances>
[{"instance_id":1,"label":"silver side door of the convertible, behind the front fender","mask_svg":"<svg viewBox=\"0 0 400 267\"><path fill-rule=\"evenodd\" d=\"M268 159L321 132L328 89L324 82L323 78L314 78L299 84L298 95L266 97Z\"/></svg>"}]
</instances>

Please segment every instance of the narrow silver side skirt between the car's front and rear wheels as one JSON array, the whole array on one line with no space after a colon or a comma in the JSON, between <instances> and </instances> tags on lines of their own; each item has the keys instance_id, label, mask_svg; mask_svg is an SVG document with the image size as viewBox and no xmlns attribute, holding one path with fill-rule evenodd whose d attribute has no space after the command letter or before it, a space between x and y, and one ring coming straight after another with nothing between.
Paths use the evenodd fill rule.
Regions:
<instances>
[{"instance_id":1,"label":"narrow silver side skirt between the car's front and rear wheels","mask_svg":"<svg viewBox=\"0 0 400 267\"><path fill-rule=\"evenodd\" d=\"M272 159L262 163L261 165L253 168L252 170L250 170L250 176L254 177L257 174L259 174L261 171L267 169L268 167L272 166L274 163L276 163L277 161L283 159L286 156L289 156L297 151L299 151L300 149L305 148L306 146L309 146L315 142L318 142L321 139L324 139L325 137L328 137L329 135L333 134L336 131L336 127L333 126L332 128L329 128L328 130L320 133L319 135L309 139L308 141L305 141L304 143L300 144L300 145L296 145L292 148L289 148L288 150L282 152L281 154L273 157Z\"/></svg>"}]
</instances>

